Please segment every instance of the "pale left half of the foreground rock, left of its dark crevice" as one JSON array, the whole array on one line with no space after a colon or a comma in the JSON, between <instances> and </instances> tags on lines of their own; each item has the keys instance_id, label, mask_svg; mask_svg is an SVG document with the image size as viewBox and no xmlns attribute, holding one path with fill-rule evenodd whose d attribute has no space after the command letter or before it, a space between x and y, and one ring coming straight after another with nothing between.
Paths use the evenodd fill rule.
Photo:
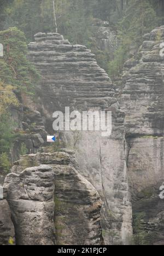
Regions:
<instances>
[{"instance_id":1,"label":"pale left half of the foreground rock, left of its dark crevice","mask_svg":"<svg viewBox=\"0 0 164 256\"><path fill-rule=\"evenodd\" d=\"M55 245L54 173L46 165L5 179L17 245Z\"/></svg>"}]
</instances>

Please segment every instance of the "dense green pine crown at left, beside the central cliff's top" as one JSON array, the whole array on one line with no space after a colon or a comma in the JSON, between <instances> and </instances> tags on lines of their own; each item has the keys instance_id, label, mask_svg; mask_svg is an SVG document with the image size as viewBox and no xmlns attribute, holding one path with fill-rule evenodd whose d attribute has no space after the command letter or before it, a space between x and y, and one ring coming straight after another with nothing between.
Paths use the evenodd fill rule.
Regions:
<instances>
[{"instance_id":1,"label":"dense green pine crown at left, beside the central cliff's top","mask_svg":"<svg viewBox=\"0 0 164 256\"><path fill-rule=\"evenodd\" d=\"M0 61L0 81L15 86L18 90L32 91L39 79L34 66L27 60L25 34L16 27L0 32L4 57Z\"/></svg>"}]
</instances>

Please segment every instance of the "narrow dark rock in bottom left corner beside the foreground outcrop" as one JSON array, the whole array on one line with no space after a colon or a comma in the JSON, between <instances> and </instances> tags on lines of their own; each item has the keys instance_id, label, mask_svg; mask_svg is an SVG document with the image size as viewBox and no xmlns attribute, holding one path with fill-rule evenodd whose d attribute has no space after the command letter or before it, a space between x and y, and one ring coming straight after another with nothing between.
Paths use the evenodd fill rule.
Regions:
<instances>
[{"instance_id":1,"label":"narrow dark rock in bottom left corner beside the foreground outcrop","mask_svg":"<svg viewBox=\"0 0 164 256\"><path fill-rule=\"evenodd\" d=\"M3 199L0 199L0 245L14 245L15 231L6 196L7 193L4 189Z\"/></svg>"}]
</instances>

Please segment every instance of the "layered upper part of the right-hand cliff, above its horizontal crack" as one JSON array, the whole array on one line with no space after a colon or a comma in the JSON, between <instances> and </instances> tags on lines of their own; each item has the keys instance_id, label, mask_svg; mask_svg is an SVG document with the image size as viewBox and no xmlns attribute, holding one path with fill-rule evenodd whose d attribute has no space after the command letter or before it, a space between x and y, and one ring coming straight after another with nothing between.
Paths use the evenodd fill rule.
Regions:
<instances>
[{"instance_id":1,"label":"layered upper part of the right-hand cliff, above its horizontal crack","mask_svg":"<svg viewBox=\"0 0 164 256\"><path fill-rule=\"evenodd\" d=\"M160 39L159 39L160 36ZM164 27L144 36L139 63L125 72L126 83L120 98L126 113L128 135L163 135L163 57L160 44L164 40Z\"/></svg>"}]
</instances>

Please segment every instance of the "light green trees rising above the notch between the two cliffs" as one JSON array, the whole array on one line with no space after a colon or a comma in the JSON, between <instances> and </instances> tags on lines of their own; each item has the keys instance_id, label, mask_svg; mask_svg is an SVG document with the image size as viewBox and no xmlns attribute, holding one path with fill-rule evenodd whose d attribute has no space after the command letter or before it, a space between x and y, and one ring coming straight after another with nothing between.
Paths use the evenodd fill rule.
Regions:
<instances>
[{"instance_id":1,"label":"light green trees rising above the notch between the two cliffs","mask_svg":"<svg viewBox=\"0 0 164 256\"><path fill-rule=\"evenodd\" d=\"M143 35L157 26L157 15L148 0L130 0L122 20L118 23L118 50L109 62L109 75L118 77L125 61L134 55L143 42Z\"/></svg>"}]
</instances>

